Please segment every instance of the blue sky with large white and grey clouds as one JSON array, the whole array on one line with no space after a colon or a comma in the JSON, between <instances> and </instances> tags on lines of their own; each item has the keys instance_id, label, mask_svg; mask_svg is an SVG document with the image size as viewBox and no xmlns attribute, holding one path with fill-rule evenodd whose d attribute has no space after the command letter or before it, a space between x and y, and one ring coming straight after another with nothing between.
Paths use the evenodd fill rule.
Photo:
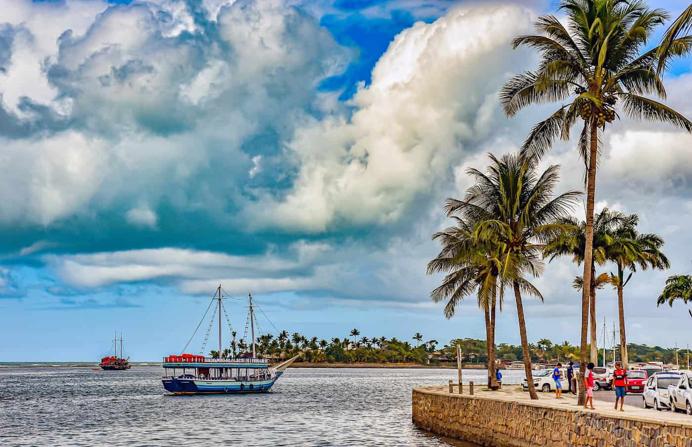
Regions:
<instances>
[{"instance_id":1,"label":"blue sky with large white and grey clouds","mask_svg":"<svg viewBox=\"0 0 692 447\"><path fill-rule=\"evenodd\" d=\"M0 361L95 360L116 331L134 360L179 353L219 284L253 294L264 333L484 338L475 298L450 320L430 302L430 235L466 168L556 109L508 119L498 105L536 64L509 42L553 3L0 0ZM653 3L675 16L689 0ZM688 117L691 71L665 79ZM597 210L637 213L672 264L626 287L630 342L691 341L684 305L655 305L668 275L692 271L690 147L655 123L605 136ZM552 164L556 192L583 189L574 141ZM580 273L558 259L536 279L529 340L579 342ZM612 329L616 293L597 300ZM239 334L244 306L225 302ZM499 343L518 343L514 309L507 297Z\"/></svg>"}]
</instances>

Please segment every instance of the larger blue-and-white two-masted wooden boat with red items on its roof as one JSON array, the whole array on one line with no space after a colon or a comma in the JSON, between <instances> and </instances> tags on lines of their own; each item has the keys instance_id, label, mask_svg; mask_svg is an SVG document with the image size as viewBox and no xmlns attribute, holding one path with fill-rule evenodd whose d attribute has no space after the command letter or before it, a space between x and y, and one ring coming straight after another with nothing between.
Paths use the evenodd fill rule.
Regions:
<instances>
[{"instance_id":1,"label":"larger blue-and-white two-masted wooden boat with red items on its roof","mask_svg":"<svg viewBox=\"0 0 692 447\"><path fill-rule=\"evenodd\" d=\"M167 356L163 358L165 375L162 378L165 390L173 394L239 394L268 392L277 379L300 355L274 366L265 358L258 358L255 351L255 320L253 297L249 296L249 322L251 327L252 351L242 356L221 358L221 286L213 300L219 301L219 357L193 354ZM208 310L208 309L207 309ZM212 316L213 320L213 316ZM211 325L210 325L211 327ZM207 332L207 334L209 331ZM194 334L193 334L194 337ZM202 349L203 350L203 349Z\"/></svg>"}]
</instances>

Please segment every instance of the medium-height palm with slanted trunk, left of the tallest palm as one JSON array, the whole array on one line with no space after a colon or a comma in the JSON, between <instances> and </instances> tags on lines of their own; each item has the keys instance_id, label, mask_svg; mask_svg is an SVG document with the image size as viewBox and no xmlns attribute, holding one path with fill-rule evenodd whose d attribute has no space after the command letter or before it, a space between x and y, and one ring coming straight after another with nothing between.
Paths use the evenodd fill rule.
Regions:
<instances>
[{"instance_id":1,"label":"medium-height palm with slanted trunk, left of the tallest palm","mask_svg":"<svg viewBox=\"0 0 692 447\"><path fill-rule=\"evenodd\" d=\"M538 277L543 272L540 255L545 241L554 234L572 230L572 226L558 219L569 214L581 193L568 191L553 197L553 189L560 178L558 165L548 167L539 175L522 156L505 154L497 158L489 154L489 158L491 165L486 173L468 170L475 183L468 188L463 200L448 199L448 215L457 216L459 220L478 221L474 236L498 246L499 275L514 291L529 394L531 399L538 399L531 386L531 356L522 292L543 300L526 276ZM502 291L500 287L500 302Z\"/></svg>"}]
</instances>

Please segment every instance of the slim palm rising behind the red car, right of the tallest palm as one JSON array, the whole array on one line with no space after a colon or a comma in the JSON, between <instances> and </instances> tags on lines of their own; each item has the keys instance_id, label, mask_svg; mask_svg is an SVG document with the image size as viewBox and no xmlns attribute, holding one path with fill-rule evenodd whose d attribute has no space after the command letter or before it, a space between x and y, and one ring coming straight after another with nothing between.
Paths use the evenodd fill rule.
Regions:
<instances>
[{"instance_id":1,"label":"slim palm rising behind the red car, right of the tallest palm","mask_svg":"<svg viewBox=\"0 0 692 447\"><path fill-rule=\"evenodd\" d=\"M625 334L625 309L623 306L623 289L630 281L632 273L646 268L664 270L671 266L668 258L660 250L664 244L663 238L653 233L639 234L637 224L639 216L629 215L615 229L612 244L608 247L607 256L617 266L617 275L610 273L610 282L617 289L617 308L620 322L620 355L623 367L628 367L627 338ZM625 270L630 274L625 278Z\"/></svg>"}]
</instances>

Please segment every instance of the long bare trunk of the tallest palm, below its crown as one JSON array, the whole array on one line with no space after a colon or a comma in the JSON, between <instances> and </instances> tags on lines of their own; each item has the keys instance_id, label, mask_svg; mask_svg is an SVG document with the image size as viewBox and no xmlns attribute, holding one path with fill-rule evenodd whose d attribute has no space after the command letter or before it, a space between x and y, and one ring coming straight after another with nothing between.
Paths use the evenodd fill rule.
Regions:
<instances>
[{"instance_id":1,"label":"long bare trunk of the tallest palm, below its crown","mask_svg":"<svg viewBox=\"0 0 692 447\"><path fill-rule=\"evenodd\" d=\"M596 157L599 147L599 129L596 121L591 121L591 138L589 152L589 172L586 184L586 241L584 248L584 285L591 284L591 263L594 251L594 202L596 196ZM584 387L583 377L586 374L586 352L588 345L589 328L589 298L590 287L581 288L581 350L579 355L579 378L576 383L579 385L579 405L584 405L586 401L586 388Z\"/></svg>"}]
</instances>

